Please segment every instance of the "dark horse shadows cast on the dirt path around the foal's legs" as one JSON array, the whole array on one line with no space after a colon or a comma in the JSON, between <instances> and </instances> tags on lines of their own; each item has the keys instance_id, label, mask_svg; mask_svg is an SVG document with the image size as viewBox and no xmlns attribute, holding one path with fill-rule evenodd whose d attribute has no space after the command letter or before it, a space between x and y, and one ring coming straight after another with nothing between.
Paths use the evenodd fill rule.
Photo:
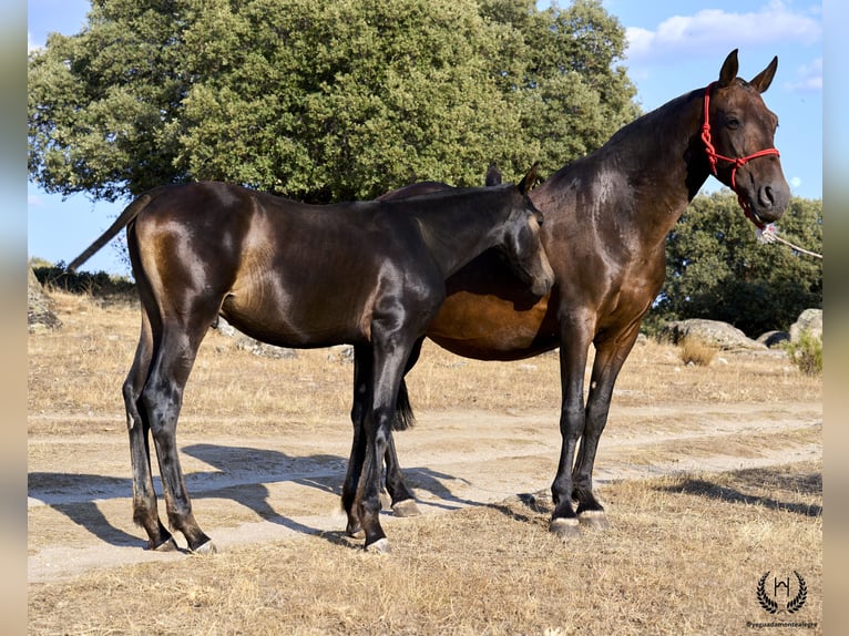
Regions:
<instances>
[{"instance_id":1,"label":"dark horse shadows cast on the dirt path around the foal's legs","mask_svg":"<svg viewBox=\"0 0 849 636\"><path fill-rule=\"evenodd\" d=\"M183 447L181 452L214 469L185 476L186 489L193 501L232 500L267 522L301 534L325 536L333 543L341 542L340 536L344 532L327 532L306 525L275 509L272 492L266 484L290 482L340 497L347 458L334 454L294 457L276 450L207 443ZM428 505L447 510L482 505L480 502L456 496L451 492L446 482L456 480L453 475L427 468L405 472L410 475L413 489L431 493ZM98 505L98 502L104 500L130 496L131 479L61 472L31 472L27 476L29 497L62 513L104 543L120 547L146 545L146 541L140 536L130 534L110 522ZM162 480L154 475L153 482L162 510Z\"/></svg>"}]
</instances>

